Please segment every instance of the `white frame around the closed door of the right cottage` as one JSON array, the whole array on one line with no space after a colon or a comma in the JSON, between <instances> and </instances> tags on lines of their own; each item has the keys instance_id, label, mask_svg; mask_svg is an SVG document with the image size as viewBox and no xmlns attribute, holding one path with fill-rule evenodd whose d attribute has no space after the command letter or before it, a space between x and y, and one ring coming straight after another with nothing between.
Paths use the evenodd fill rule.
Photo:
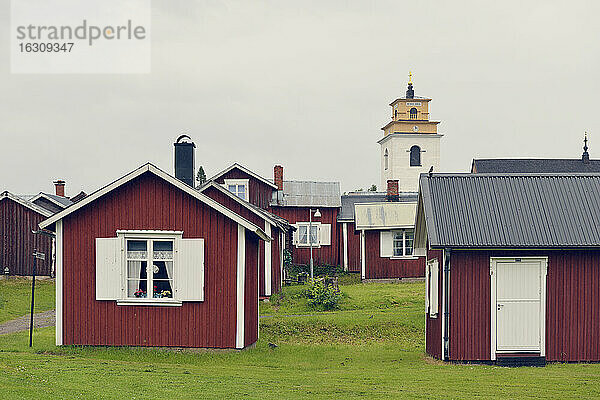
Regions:
<instances>
[{"instance_id":1,"label":"white frame around the closed door of the right cottage","mask_svg":"<svg viewBox=\"0 0 600 400\"><path fill-rule=\"evenodd\" d=\"M517 261L518 260L518 261ZM536 262L540 263L540 356L546 356L546 286L548 276L548 257L490 257L490 359L496 360L496 354L503 353L497 350L497 308L496 308L496 275L498 262ZM515 349L510 353L520 352Z\"/></svg>"}]
</instances>

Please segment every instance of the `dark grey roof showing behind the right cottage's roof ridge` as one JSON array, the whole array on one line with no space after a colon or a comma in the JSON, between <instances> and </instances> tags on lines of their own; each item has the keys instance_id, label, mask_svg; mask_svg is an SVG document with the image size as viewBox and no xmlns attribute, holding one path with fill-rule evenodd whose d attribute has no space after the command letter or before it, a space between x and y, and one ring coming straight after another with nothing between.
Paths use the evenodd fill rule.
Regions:
<instances>
[{"instance_id":1,"label":"dark grey roof showing behind the right cottage's roof ridge","mask_svg":"<svg viewBox=\"0 0 600 400\"><path fill-rule=\"evenodd\" d=\"M600 160L584 163L581 158L498 158L474 159L471 172L477 173L567 173L600 172Z\"/></svg>"}]
</instances>

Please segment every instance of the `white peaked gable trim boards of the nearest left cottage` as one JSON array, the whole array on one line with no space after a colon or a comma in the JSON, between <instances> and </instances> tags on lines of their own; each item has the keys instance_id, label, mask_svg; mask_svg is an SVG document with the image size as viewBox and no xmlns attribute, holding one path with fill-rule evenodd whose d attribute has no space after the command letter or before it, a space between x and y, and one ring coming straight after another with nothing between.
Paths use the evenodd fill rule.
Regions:
<instances>
[{"instance_id":1,"label":"white peaked gable trim boards of the nearest left cottage","mask_svg":"<svg viewBox=\"0 0 600 400\"><path fill-rule=\"evenodd\" d=\"M104 186L103 188L96 190L94 193L90 194L88 197L84 198L83 200L81 200L78 203L73 204L72 206L64 209L63 211L54 214L52 217L42 221L40 223L40 228L46 228L54 223L56 223L57 221L61 220L62 218L64 218L65 216L71 214L74 211L79 210L80 208L86 206L87 204L95 201L96 199L98 199L99 197L104 196L105 194L115 190L116 188L118 188L119 186L124 185L125 183L137 178L138 176L146 173L146 172L150 172L152 174L154 174L155 176L167 181L168 183L172 184L173 186L175 186L176 188L184 191L185 193L191 195L192 197L195 197L196 199L200 200L202 203L206 204L209 207L212 207L213 209L215 209L216 211L220 212L221 214L229 217L230 219L232 219L233 221L237 222L238 224L242 225L243 227L245 227L246 229L248 229L251 232L256 233L262 240L265 241L269 241L271 240L266 234L265 232L259 228L258 226L254 225L252 222L248 221L245 218L242 218L241 216L239 216L238 214L234 213L233 211L231 211L230 209L228 209L227 207L219 204L218 202L216 202L215 200L211 199L210 197L206 196L205 194L200 193L199 191L197 191L196 189L194 189L193 187L183 183L182 181L180 181L179 179L167 174L166 172L164 172L163 170L155 167L154 165L150 164L150 163L146 163L144 165L142 165L141 167L139 167L138 169L130 172L129 174L123 176L120 179L117 179L116 181L113 181L112 183Z\"/></svg>"}]
</instances>

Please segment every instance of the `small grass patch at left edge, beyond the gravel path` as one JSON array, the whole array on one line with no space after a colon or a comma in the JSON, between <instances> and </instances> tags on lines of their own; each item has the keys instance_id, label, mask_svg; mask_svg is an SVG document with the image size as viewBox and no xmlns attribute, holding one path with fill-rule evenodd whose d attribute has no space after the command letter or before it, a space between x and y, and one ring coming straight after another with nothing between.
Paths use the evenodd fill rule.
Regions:
<instances>
[{"instance_id":1,"label":"small grass patch at left edge, beyond the gravel path","mask_svg":"<svg viewBox=\"0 0 600 400\"><path fill-rule=\"evenodd\" d=\"M35 282L35 312L54 308L54 282ZM11 278L0 281L0 323L29 313L31 307L31 280Z\"/></svg>"}]
</instances>

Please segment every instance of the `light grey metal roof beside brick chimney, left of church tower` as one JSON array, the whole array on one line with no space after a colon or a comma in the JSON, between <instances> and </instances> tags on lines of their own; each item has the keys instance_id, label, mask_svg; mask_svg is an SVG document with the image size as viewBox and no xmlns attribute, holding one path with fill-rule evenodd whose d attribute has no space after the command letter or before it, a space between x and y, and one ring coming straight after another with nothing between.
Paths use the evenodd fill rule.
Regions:
<instances>
[{"instance_id":1,"label":"light grey metal roof beside brick chimney, left of church tower","mask_svg":"<svg viewBox=\"0 0 600 400\"><path fill-rule=\"evenodd\" d=\"M283 181L273 203L282 207L341 207L339 182Z\"/></svg>"}]
</instances>

